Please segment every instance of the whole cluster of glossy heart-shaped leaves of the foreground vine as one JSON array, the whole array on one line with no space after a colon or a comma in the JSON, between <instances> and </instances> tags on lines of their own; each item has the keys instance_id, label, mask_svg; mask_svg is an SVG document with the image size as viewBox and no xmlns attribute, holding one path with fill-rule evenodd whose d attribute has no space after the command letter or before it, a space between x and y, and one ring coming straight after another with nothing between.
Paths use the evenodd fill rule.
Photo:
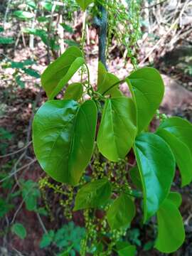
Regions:
<instances>
[{"instance_id":1,"label":"whole cluster of glossy heart-shaped leaves of the foreground vine","mask_svg":"<svg viewBox=\"0 0 192 256\"><path fill-rule=\"evenodd\" d=\"M87 68L86 81L82 82L81 76L80 83L69 85L65 90L63 100L52 100L82 65L87 68L82 52L74 46L48 65L41 76L41 82L50 100L36 112L33 120L33 146L43 170L56 181L72 186L80 185L75 188L78 192L74 210L85 209L83 212L87 228L81 254L97 252L103 248L103 242L97 240L97 222L90 223L90 215L95 215L97 209L102 209L105 216L100 220L98 231L106 235L105 228L110 227L111 234L117 235L111 235L115 242L112 240L107 246L106 253L117 247L118 234L127 230L134 218L134 197L143 200L144 222L157 215L156 248L161 252L174 252L183 242L184 230L178 211L181 197L170 193L170 190L176 163L181 169L183 183L191 181L192 126L183 119L171 117L163 119L155 133L145 132L164 95L164 82L154 68L140 68L125 80L119 80L107 73L100 63L97 90L90 85ZM129 86L132 98L119 95L118 86L124 81ZM91 100L85 100L87 95ZM97 147L94 147L95 144ZM123 171L119 169L113 174L114 163L111 162L123 162L132 148L137 164L130 171L130 176L139 191L129 185L123 168ZM90 163L93 149L97 152L97 159L102 157L100 154L106 159L103 158L101 168L97 168L95 161L92 169L94 181L85 185L87 176L82 174ZM182 150L186 152L186 158L181 157ZM186 164L188 159L189 163ZM110 166L107 166L107 171L106 163ZM60 186L50 187L65 195ZM171 235L170 230L174 230ZM135 236L132 242L141 245L139 231L131 231ZM55 243L64 249L64 255L68 253L69 248L65 246L73 246L73 243L65 244L65 240L58 242L57 238L62 236L62 232L58 231L57 235L50 230L41 241L41 247ZM90 238L93 244L87 249ZM80 251L80 248L71 248L70 253L73 250ZM125 245L116 251L119 255L134 255L135 247Z\"/></svg>"}]
</instances>

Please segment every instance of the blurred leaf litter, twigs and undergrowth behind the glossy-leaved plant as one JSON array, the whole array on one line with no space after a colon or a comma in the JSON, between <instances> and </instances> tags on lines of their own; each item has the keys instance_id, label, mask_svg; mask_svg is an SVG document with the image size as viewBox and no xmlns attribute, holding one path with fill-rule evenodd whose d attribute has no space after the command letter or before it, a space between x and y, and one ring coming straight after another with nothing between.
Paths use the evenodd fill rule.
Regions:
<instances>
[{"instance_id":1,"label":"blurred leaf litter, twigs and undergrowth behind the glossy-leaved plant","mask_svg":"<svg viewBox=\"0 0 192 256\"><path fill-rule=\"evenodd\" d=\"M97 235L105 222L102 210L73 212L75 191L60 185L41 170L33 154L33 114L45 102L40 75L68 46L85 50L93 85L97 79L100 6L107 11L106 65L124 78L144 65L158 68L166 85L161 113L192 121L192 1L97 0L85 14L75 0L0 1L0 255L83 255L87 228L94 243L87 255L117 255L101 247ZM73 78L74 81L77 77ZM127 93L127 87L121 87ZM58 96L58 97L61 97ZM156 127L158 115L151 124ZM92 169L107 168L114 176L126 174L127 162L98 161ZM127 156L132 159L132 155ZM192 190L174 188L183 196L181 213L186 242L173 255L192 255ZM153 218L146 225L137 218L125 233L106 233L105 243L119 239L137 246L137 255L162 255L152 249L156 237ZM85 226L87 215L93 221ZM111 246L112 246L111 245ZM105 252L106 250L106 252ZM102 254L103 252L103 254Z\"/></svg>"}]
</instances>

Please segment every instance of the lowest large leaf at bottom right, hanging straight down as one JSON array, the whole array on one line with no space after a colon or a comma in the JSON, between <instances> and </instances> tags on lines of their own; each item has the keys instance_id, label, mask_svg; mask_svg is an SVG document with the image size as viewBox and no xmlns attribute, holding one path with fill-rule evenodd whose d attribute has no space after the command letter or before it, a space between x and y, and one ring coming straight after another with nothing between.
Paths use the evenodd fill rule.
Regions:
<instances>
[{"instance_id":1,"label":"lowest large leaf at bottom right, hanging straight down","mask_svg":"<svg viewBox=\"0 0 192 256\"><path fill-rule=\"evenodd\" d=\"M171 253L178 250L185 240L185 230L181 213L175 201L166 198L157 212L158 237L155 247L160 252Z\"/></svg>"}]
</instances>

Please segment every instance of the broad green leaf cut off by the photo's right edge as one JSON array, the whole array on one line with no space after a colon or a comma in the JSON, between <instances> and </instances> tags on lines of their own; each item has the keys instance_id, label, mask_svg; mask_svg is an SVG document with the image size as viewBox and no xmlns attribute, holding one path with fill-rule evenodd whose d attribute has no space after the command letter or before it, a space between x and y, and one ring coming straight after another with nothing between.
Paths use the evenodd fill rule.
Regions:
<instances>
[{"instance_id":1,"label":"broad green leaf cut off by the photo's right edge","mask_svg":"<svg viewBox=\"0 0 192 256\"><path fill-rule=\"evenodd\" d=\"M192 180L192 125L181 117L171 117L161 123L156 134L171 147L181 172L182 184Z\"/></svg>"}]
</instances>

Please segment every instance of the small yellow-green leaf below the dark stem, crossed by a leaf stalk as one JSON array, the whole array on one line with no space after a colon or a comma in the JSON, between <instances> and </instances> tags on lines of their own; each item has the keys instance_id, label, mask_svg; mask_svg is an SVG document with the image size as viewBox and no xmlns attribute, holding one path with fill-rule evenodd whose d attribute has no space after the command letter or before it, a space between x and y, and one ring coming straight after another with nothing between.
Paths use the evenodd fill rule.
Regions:
<instances>
[{"instance_id":1,"label":"small yellow-green leaf below the dark stem, crossed by a leaf stalk","mask_svg":"<svg viewBox=\"0 0 192 256\"><path fill-rule=\"evenodd\" d=\"M98 65L98 78L97 78L97 92L104 94L112 85L119 82L119 78L111 73L107 73L105 66L99 62ZM119 91L118 85L108 90L105 95L111 95L112 97L120 97L122 92Z\"/></svg>"}]
</instances>

